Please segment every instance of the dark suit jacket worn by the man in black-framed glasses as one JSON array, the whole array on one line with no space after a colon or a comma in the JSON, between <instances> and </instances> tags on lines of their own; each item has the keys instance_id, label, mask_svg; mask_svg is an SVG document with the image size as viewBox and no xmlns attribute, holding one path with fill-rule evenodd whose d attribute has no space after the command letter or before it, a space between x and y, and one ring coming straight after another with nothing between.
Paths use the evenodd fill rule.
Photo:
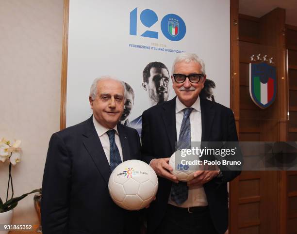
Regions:
<instances>
[{"instance_id":1,"label":"dark suit jacket worn by the man in black-framed glasses","mask_svg":"<svg viewBox=\"0 0 297 234\"><path fill-rule=\"evenodd\" d=\"M142 114L142 156L147 163L153 158L170 157L175 152L177 141L175 121L176 97L153 106ZM200 98L202 139L201 141L237 141L237 132L231 109L221 104ZM223 171L221 179L214 178L204 184L214 226L219 233L228 227L227 182L240 171ZM156 201L148 210L148 233L154 233L165 215L172 182L159 177Z\"/></svg>"}]
</instances>

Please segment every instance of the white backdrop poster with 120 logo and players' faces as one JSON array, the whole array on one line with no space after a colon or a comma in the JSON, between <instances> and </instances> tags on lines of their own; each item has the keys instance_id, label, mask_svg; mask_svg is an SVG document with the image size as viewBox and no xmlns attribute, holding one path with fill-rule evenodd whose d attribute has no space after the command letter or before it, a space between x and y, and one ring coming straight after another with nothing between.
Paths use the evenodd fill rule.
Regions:
<instances>
[{"instance_id":1,"label":"white backdrop poster with 120 logo and players' faces","mask_svg":"<svg viewBox=\"0 0 297 234\"><path fill-rule=\"evenodd\" d=\"M110 75L133 90L122 123L139 127L144 110L175 96L172 63L184 51L203 59L215 101L229 107L229 0L70 0L66 126L90 117L91 83Z\"/></svg>"}]
</instances>

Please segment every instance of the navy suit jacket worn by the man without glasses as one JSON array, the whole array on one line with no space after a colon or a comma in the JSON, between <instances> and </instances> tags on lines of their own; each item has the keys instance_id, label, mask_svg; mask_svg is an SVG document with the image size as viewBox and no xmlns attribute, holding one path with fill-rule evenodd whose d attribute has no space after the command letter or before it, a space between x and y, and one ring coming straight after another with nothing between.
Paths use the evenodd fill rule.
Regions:
<instances>
[{"instance_id":1,"label":"navy suit jacket worn by the man without glasses","mask_svg":"<svg viewBox=\"0 0 297 234\"><path fill-rule=\"evenodd\" d=\"M140 159L137 131L121 124L117 129L123 160ZM92 116L54 133L42 184L43 233L139 233L138 212L118 207L109 195L110 174Z\"/></svg>"}]
</instances>

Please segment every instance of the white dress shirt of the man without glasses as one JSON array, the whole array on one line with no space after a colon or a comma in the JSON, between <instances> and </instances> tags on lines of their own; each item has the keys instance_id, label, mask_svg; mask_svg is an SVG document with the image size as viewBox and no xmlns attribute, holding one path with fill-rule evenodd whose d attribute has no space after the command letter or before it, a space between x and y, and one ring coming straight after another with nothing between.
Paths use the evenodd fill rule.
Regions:
<instances>
[{"instance_id":1,"label":"white dress shirt of the man without glasses","mask_svg":"<svg viewBox=\"0 0 297 234\"><path fill-rule=\"evenodd\" d=\"M100 139L101 145L103 147L107 161L110 164L110 144L109 144L109 137L107 134L107 131L110 129L100 125L99 122L95 119L94 115L93 115L93 123L94 123L95 129L97 131L97 134L99 136L99 139ZM120 153L121 160L123 161L122 145L121 145L121 141L119 139L117 125L115 125L115 127L113 129L115 129L115 144L116 144L118 151Z\"/></svg>"}]
</instances>

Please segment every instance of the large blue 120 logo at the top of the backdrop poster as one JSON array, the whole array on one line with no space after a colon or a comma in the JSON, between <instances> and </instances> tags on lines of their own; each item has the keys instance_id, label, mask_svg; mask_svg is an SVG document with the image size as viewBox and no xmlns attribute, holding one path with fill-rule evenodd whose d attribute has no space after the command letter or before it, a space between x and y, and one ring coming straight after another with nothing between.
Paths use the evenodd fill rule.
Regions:
<instances>
[{"instance_id":1,"label":"large blue 120 logo at the top of the backdrop poster","mask_svg":"<svg viewBox=\"0 0 297 234\"><path fill-rule=\"evenodd\" d=\"M145 9L140 13L140 22L150 28L158 22L157 14L150 9ZM186 33L186 26L182 18L175 14L168 14L161 20L161 31L170 41L180 41ZM130 12L130 35L137 35L137 7ZM159 38L158 31L144 31L140 36L149 38Z\"/></svg>"}]
</instances>

